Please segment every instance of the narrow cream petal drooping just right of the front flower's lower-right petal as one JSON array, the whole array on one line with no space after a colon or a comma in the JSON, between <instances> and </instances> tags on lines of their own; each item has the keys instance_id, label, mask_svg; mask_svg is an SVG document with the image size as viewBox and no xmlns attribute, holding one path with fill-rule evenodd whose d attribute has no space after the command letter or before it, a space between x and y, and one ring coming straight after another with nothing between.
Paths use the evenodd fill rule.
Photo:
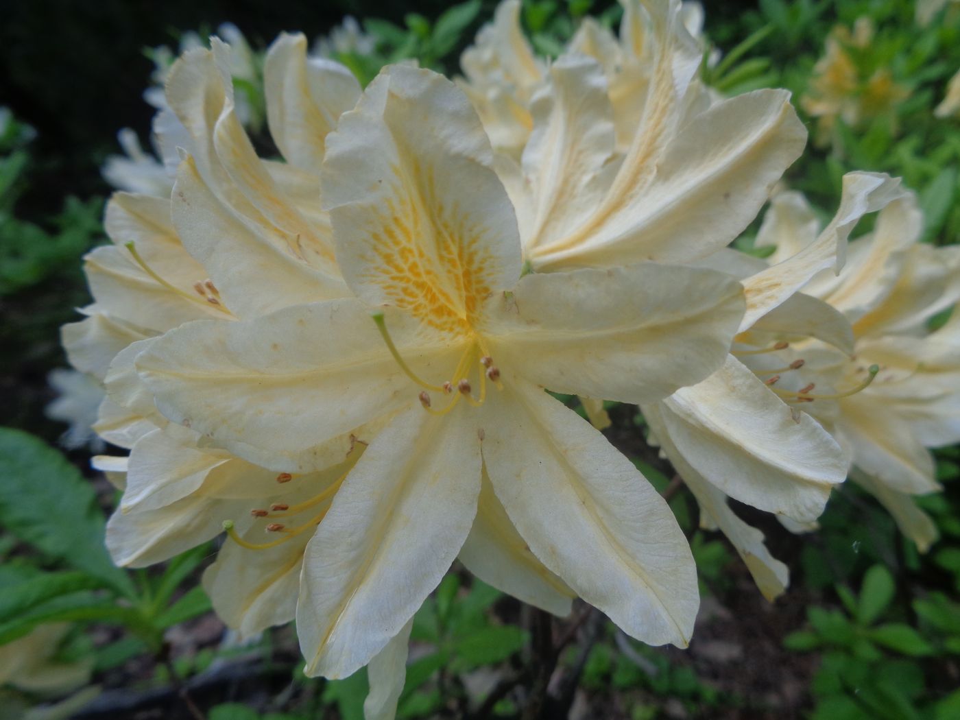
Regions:
<instances>
[{"instance_id":1,"label":"narrow cream petal drooping just right of the front flower's lower-right petal","mask_svg":"<svg viewBox=\"0 0 960 720\"><path fill-rule=\"evenodd\" d=\"M665 403L658 403L645 408L643 417L660 439L663 451L674 468L677 468L684 478L686 487L697 498L701 525L719 530L727 536L754 577L756 587L763 593L763 597L772 602L789 584L790 571L770 554L763 543L763 533L736 516L727 504L726 495L686 462L684 452L673 444L672 435L661 420L664 405Z\"/></svg>"}]
</instances>

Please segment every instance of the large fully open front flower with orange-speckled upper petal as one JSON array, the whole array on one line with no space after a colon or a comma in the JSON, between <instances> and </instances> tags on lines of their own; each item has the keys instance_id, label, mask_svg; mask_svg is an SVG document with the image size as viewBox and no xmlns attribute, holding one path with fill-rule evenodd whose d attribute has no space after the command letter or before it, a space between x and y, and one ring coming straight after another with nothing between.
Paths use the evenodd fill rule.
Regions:
<instances>
[{"instance_id":1,"label":"large fully open front flower with orange-speckled upper petal","mask_svg":"<svg viewBox=\"0 0 960 720\"><path fill-rule=\"evenodd\" d=\"M229 128L218 123L221 152ZM194 164L181 166L178 225L212 217ZM426 70L390 68L368 87L327 136L322 179L355 297L185 324L135 360L168 419L275 470L320 471L318 448L382 423L306 546L307 672L341 677L369 661L474 533L508 558L525 542L549 569L515 573L527 585L516 594L565 583L630 634L685 644L697 600L683 534L633 465L542 387L643 401L696 382L729 347L738 285L652 266L520 278L483 128ZM262 192L243 202L295 221ZM236 279L249 295L255 285ZM228 298L231 276L217 282ZM269 289L306 294L288 285ZM522 540L484 537L508 517Z\"/></svg>"}]
</instances>

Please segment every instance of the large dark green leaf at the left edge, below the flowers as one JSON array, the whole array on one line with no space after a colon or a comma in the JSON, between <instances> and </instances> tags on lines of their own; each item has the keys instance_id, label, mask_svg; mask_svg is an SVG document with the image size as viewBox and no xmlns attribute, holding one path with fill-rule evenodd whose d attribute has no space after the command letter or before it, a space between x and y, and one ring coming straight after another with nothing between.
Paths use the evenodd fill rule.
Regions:
<instances>
[{"instance_id":1,"label":"large dark green leaf at the left edge, below the flowers","mask_svg":"<svg viewBox=\"0 0 960 720\"><path fill-rule=\"evenodd\" d=\"M60 452L12 428L0 428L0 520L44 554L135 597L130 577L104 545L93 488Z\"/></svg>"}]
</instances>

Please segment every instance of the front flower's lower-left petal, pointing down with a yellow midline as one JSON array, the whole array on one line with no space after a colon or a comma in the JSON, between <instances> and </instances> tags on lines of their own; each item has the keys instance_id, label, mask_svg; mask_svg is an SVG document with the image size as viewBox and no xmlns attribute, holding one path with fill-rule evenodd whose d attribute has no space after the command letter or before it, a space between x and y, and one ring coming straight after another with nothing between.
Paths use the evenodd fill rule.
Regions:
<instances>
[{"instance_id":1,"label":"front flower's lower-left petal, pointing down with a yellow midline","mask_svg":"<svg viewBox=\"0 0 960 720\"><path fill-rule=\"evenodd\" d=\"M297 626L308 676L342 678L367 664L443 578L476 514L476 420L465 406L438 418L417 405L344 481L303 564Z\"/></svg>"}]
</instances>

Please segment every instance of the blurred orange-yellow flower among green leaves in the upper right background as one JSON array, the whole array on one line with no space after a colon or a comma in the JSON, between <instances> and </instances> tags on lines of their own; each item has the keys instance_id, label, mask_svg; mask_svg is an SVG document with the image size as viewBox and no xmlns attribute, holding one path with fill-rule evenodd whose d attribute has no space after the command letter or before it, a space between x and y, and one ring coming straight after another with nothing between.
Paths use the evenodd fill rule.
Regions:
<instances>
[{"instance_id":1,"label":"blurred orange-yellow flower among green leaves in the upper right background","mask_svg":"<svg viewBox=\"0 0 960 720\"><path fill-rule=\"evenodd\" d=\"M870 77L861 77L850 51L867 48L875 32L869 17L859 17L852 33L838 25L827 37L826 53L814 65L809 90L801 99L801 107L817 118L818 145L833 142L838 119L856 128L892 112L910 96L909 88L895 82L889 68L878 67Z\"/></svg>"}]
</instances>

